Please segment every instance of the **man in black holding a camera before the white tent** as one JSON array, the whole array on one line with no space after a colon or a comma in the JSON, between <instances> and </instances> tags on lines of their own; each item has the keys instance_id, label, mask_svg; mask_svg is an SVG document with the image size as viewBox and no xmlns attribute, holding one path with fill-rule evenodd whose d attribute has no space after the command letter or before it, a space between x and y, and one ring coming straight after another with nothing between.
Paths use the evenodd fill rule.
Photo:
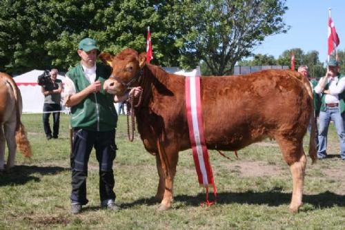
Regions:
<instances>
[{"instance_id":1,"label":"man in black holding a camera before the white tent","mask_svg":"<svg viewBox=\"0 0 345 230\"><path fill-rule=\"evenodd\" d=\"M59 136L60 111L61 111L61 91L62 82L57 79L57 69L53 68L50 72L45 71L39 76L39 85L41 85L44 95L43 104L43 127L47 140L57 138ZM53 128L50 129L49 117L52 112ZM52 132L53 131L53 132Z\"/></svg>"}]
</instances>

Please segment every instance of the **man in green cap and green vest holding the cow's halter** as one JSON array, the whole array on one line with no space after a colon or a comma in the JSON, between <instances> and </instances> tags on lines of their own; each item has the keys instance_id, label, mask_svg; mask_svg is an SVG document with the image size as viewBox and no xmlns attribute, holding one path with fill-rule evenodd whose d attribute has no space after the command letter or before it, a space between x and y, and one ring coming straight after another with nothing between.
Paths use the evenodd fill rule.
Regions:
<instances>
[{"instance_id":1,"label":"man in green cap and green vest holding the cow's halter","mask_svg":"<svg viewBox=\"0 0 345 230\"><path fill-rule=\"evenodd\" d=\"M66 73L64 102L71 108L70 124L73 130L71 154L72 192L71 211L77 214L88 203L86 178L92 148L99 162L99 195L101 207L117 211L112 162L116 156L115 128L117 112L114 95L103 90L103 82L111 75L110 66L96 62L99 48L94 39L79 42L80 64ZM131 92L134 92L132 89Z\"/></svg>"}]
</instances>

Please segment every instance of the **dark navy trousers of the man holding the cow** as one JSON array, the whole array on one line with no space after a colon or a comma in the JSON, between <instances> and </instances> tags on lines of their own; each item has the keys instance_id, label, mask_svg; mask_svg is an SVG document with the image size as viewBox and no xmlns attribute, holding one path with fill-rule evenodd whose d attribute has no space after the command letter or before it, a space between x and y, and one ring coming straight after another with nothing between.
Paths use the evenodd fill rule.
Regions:
<instances>
[{"instance_id":1,"label":"dark navy trousers of the man holding the cow","mask_svg":"<svg viewBox=\"0 0 345 230\"><path fill-rule=\"evenodd\" d=\"M72 203L87 204L86 178L88 177L88 160L92 147L95 147L99 162L99 196L101 202L115 200L115 186L112 162L116 157L115 130L107 132L86 131L79 129L73 133L73 147L70 157L72 168Z\"/></svg>"}]
</instances>

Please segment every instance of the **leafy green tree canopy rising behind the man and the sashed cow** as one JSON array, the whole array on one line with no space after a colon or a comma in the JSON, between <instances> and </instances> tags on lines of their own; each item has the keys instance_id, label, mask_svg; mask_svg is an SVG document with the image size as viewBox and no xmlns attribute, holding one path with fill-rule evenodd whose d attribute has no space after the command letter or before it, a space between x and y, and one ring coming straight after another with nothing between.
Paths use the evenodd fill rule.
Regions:
<instances>
[{"instance_id":1,"label":"leafy green tree canopy rising behind the man and the sashed cow","mask_svg":"<svg viewBox=\"0 0 345 230\"><path fill-rule=\"evenodd\" d=\"M154 64L213 75L233 66L268 35L286 32L284 0L3 0L0 71L74 66L77 44L92 37L104 51L146 48L151 28Z\"/></svg>"}]
</instances>

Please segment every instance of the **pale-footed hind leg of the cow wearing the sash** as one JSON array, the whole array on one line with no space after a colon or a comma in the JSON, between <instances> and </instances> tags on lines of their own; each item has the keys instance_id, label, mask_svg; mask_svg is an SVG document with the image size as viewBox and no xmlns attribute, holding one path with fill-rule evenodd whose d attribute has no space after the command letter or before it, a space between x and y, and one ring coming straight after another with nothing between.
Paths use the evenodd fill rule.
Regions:
<instances>
[{"instance_id":1,"label":"pale-footed hind leg of the cow wearing the sash","mask_svg":"<svg viewBox=\"0 0 345 230\"><path fill-rule=\"evenodd\" d=\"M298 212L302 206L304 174L306 171L306 155L301 140L276 137L286 163L290 166L293 177L293 195L290 202L290 211Z\"/></svg>"}]
</instances>

